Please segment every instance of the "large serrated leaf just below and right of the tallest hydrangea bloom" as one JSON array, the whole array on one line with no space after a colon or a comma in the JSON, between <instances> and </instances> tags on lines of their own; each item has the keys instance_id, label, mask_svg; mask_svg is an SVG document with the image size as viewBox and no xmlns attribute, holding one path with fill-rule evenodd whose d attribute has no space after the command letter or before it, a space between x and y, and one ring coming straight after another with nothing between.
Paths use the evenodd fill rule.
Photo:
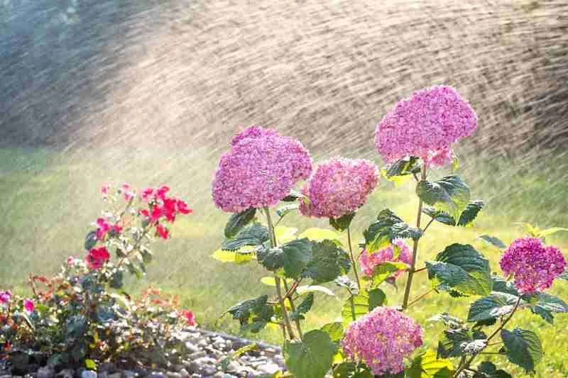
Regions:
<instances>
[{"instance_id":1,"label":"large serrated leaf just below and right of the tallest hydrangea bloom","mask_svg":"<svg viewBox=\"0 0 568 378\"><path fill-rule=\"evenodd\" d=\"M459 219L461 211L469 203L469 187L456 174L442 177L435 182L422 180L416 185L417 196L437 211L444 211Z\"/></svg>"}]
</instances>

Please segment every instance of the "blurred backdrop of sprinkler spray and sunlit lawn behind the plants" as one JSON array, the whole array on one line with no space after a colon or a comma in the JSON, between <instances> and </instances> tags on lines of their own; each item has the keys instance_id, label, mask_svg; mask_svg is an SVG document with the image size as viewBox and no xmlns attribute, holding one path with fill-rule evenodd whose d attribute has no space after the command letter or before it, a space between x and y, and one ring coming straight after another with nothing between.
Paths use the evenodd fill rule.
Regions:
<instances>
[{"instance_id":1,"label":"blurred backdrop of sprinkler spray and sunlit lawn behind the plants","mask_svg":"<svg viewBox=\"0 0 568 378\"><path fill-rule=\"evenodd\" d=\"M0 288L26 291L28 272L54 274L68 255L83 255L102 184L166 183L195 213L155 246L145 284L180 294L204 328L236 332L215 320L272 290L254 264L210 257L228 218L210 182L231 135L277 128L316 162L343 155L382 165L376 124L432 84L456 87L479 116L457 152L486 209L473 228L432 226L420 260L452 240L498 270L499 251L477 235L509 243L523 235L515 222L568 226L566 1L0 0ZM381 183L356 218L359 235L386 206L413 221L413 190ZM327 227L289 217L300 231ZM566 252L567 234L547 241ZM337 300L321 300L310 326L339 313L344 294L330 288ZM552 291L568 297L562 284ZM413 316L425 321L451 304L465 313L439 294ZM568 336L557 332L568 317L556 328L535 316L518 323L545 343L537 375L568 376ZM278 341L273 330L252 337Z\"/></svg>"}]
</instances>

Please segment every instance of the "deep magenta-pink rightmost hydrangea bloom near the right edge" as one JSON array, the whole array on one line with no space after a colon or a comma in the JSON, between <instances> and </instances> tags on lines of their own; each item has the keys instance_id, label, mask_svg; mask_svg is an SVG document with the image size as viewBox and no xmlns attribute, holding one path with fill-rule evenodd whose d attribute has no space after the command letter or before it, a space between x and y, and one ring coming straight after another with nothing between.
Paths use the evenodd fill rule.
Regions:
<instances>
[{"instance_id":1,"label":"deep magenta-pink rightmost hydrangea bloom near the right edge","mask_svg":"<svg viewBox=\"0 0 568 378\"><path fill-rule=\"evenodd\" d=\"M543 291L566 268L564 255L554 245L542 245L539 238L519 238L503 252L499 262L505 274L513 274L521 293Z\"/></svg>"}]
</instances>

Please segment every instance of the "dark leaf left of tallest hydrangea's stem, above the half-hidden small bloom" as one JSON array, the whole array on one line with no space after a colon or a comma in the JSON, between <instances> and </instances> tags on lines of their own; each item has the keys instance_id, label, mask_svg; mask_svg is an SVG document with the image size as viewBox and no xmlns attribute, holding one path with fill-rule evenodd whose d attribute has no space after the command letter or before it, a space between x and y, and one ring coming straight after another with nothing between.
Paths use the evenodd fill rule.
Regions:
<instances>
[{"instance_id":1,"label":"dark leaf left of tallest hydrangea's stem, above the half-hidden small bloom","mask_svg":"<svg viewBox=\"0 0 568 378\"><path fill-rule=\"evenodd\" d=\"M422 230L408 226L391 210L384 209L381 213L378 213L376 221L371 223L371 226L368 226L363 235L365 238L365 249L368 253L373 253L385 248L397 238L420 239Z\"/></svg>"}]
</instances>

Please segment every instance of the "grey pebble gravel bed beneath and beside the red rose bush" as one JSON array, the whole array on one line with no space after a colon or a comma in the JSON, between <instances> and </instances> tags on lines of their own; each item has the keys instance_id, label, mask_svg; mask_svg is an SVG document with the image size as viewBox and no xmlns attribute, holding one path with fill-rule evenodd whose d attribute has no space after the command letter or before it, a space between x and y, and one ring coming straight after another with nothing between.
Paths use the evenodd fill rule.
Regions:
<instances>
[{"instance_id":1,"label":"grey pebble gravel bed beneath and beside the red rose bush","mask_svg":"<svg viewBox=\"0 0 568 378\"><path fill-rule=\"evenodd\" d=\"M97 372L79 369L57 370L53 367L30 365L27 374L12 374L9 364L0 361L0 378L187 378L187 377L259 377L284 369L284 360L279 347L254 342L233 335L208 330L186 330L182 338L187 355L176 363L168 362L165 368L136 367L121 369L120 364L104 362ZM222 362L231 353L246 345L256 343L254 350Z\"/></svg>"}]
</instances>

